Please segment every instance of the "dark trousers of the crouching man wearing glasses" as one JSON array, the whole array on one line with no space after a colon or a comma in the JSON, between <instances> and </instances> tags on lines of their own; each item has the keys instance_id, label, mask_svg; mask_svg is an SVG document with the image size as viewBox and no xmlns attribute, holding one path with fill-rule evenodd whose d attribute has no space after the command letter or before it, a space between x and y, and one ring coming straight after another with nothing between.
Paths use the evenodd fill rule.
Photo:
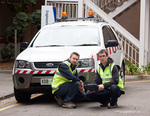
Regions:
<instances>
[{"instance_id":1,"label":"dark trousers of the crouching man wearing glasses","mask_svg":"<svg viewBox=\"0 0 150 116\"><path fill-rule=\"evenodd\" d=\"M87 93L87 99L92 101L97 101L102 104L110 101L110 105L114 106L118 98L121 96L120 88L117 85L112 85L110 89L104 89L103 91L98 91L94 93Z\"/></svg>"}]
</instances>

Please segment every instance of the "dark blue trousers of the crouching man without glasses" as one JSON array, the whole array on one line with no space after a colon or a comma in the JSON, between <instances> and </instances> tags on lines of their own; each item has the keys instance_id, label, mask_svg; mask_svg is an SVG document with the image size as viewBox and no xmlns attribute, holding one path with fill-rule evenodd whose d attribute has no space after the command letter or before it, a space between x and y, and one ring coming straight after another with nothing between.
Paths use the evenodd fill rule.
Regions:
<instances>
[{"instance_id":1,"label":"dark blue trousers of the crouching man without glasses","mask_svg":"<svg viewBox=\"0 0 150 116\"><path fill-rule=\"evenodd\" d=\"M57 91L55 91L55 95L60 96L63 99L63 102L81 101L86 97L86 95L85 93L80 93L79 85L80 83L78 81L64 83L59 86Z\"/></svg>"}]
</instances>

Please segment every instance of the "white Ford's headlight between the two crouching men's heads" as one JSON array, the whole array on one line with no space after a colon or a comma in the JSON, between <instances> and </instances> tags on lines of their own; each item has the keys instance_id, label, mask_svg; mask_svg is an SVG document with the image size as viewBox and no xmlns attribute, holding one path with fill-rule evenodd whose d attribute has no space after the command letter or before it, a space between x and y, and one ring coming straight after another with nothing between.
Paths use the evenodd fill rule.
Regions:
<instances>
[{"instance_id":1,"label":"white Ford's headlight between the two crouching men's heads","mask_svg":"<svg viewBox=\"0 0 150 116\"><path fill-rule=\"evenodd\" d=\"M94 59L92 58L80 59L78 63L78 67L94 67Z\"/></svg>"}]
</instances>

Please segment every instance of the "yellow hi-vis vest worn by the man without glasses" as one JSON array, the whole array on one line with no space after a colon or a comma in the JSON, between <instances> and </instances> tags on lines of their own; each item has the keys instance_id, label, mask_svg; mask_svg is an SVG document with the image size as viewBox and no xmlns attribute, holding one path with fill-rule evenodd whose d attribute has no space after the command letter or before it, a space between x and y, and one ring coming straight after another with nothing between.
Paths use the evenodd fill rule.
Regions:
<instances>
[{"instance_id":1,"label":"yellow hi-vis vest worn by the man without glasses","mask_svg":"<svg viewBox=\"0 0 150 116\"><path fill-rule=\"evenodd\" d=\"M76 71L77 71L77 66L76 68L72 71L71 69L71 63L68 62L68 61L65 61L63 62L65 63L68 67L69 67L69 70L70 72L75 75L76 74ZM59 65L58 65L58 68L59 68ZM68 80L67 78L65 78L60 72L59 72L59 69L57 68L57 71L54 75L54 78L53 78L53 82L52 82L52 94L54 94L54 92L59 89L59 86L62 85L63 83L66 83L66 82L72 82L72 80Z\"/></svg>"}]
</instances>

